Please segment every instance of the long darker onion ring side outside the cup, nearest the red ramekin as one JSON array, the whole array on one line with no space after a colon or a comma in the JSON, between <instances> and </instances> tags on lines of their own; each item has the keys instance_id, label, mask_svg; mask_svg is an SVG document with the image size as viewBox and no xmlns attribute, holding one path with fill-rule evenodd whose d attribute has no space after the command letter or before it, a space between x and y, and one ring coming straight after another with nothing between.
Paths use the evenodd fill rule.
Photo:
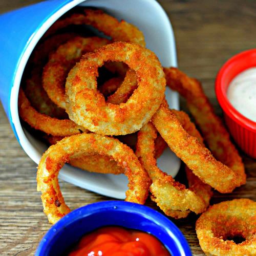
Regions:
<instances>
[{"instance_id":1,"label":"long darker onion ring side outside the cup, nearest the red ramekin","mask_svg":"<svg viewBox=\"0 0 256 256\"><path fill-rule=\"evenodd\" d=\"M200 82L176 68L164 68L164 73L166 85L186 99L188 109L194 116L212 155L239 175L240 185L245 184L246 175L242 159L231 143L221 119L215 115Z\"/></svg>"}]
</instances>

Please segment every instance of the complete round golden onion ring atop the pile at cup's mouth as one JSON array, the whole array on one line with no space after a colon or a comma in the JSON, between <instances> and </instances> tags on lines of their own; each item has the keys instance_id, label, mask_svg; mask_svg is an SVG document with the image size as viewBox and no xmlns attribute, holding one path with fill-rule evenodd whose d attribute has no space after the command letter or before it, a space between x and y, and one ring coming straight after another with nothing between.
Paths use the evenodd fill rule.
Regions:
<instances>
[{"instance_id":1,"label":"complete round golden onion ring atop the pile at cup's mouth","mask_svg":"<svg viewBox=\"0 0 256 256\"><path fill-rule=\"evenodd\" d=\"M124 61L136 72L138 88L126 103L107 103L97 91L98 67L108 60ZM153 52L138 45L114 42L83 55L70 71L66 82L69 101L66 111L71 120L91 132L125 135L138 131L151 119L164 97L164 90L164 74Z\"/></svg>"}]
</instances>

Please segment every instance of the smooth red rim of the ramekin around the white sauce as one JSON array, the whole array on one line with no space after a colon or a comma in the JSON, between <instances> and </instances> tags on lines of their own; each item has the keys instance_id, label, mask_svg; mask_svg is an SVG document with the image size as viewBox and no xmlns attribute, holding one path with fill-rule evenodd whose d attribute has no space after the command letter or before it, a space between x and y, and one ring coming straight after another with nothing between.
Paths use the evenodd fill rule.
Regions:
<instances>
[{"instance_id":1,"label":"smooth red rim of the ramekin around the white sauce","mask_svg":"<svg viewBox=\"0 0 256 256\"><path fill-rule=\"evenodd\" d=\"M231 105L227 89L231 80L241 72L256 67L256 49L244 51L230 58L219 71L216 78L216 95L223 111L246 129L256 132L256 122L248 119Z\"/></svg>"}]
</instances>

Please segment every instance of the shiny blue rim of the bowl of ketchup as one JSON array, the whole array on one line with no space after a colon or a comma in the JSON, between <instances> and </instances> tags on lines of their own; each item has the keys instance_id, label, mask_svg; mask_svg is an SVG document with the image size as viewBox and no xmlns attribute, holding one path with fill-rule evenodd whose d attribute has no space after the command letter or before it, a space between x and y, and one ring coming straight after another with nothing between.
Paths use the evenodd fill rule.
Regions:
<instances>
[{"instance_id":1,"label":"shiny blue rim of the bowl of ketchup","mask_svg":"<svg viewBox=\"0 0 256 256\"><path fill-rule=\"evenodd\" d=\"M157 223L158 225L161 225L162 228L169 234L170 240L172 240L173 243L176 244L180 255L192 255L188 242L186 241L180 229L172 221L160 214L160 212L137 203L113 200L97 202L82 206L74 211L71 211L68 215L61 218L48 230L48 232L42 238L36 249L35 256L46 255L45 252L47 247L50 245L51 241L60 230L69 225L72 225L73 222L78 221L79 219L86 218L102 210L131 212L154 223ZM168 246L163 241L161 242L168 249Z\"/></svg>"}]
</instances>

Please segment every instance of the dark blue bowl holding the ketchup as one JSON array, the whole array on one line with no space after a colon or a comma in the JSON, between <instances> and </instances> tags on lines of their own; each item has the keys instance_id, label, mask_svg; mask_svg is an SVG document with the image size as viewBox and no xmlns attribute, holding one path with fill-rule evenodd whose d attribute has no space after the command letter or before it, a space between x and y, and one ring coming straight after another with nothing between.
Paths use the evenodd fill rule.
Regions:
<instances>
[{"instance_id":1,"label":"dark blue bowl holding the ketchup","mask_svg":"<svg viewBox=\"0 0 256 256\"><path fill-rule=\"evenodd\" d=\"M70 212L46 233L35 255L61 255L83 234L113 225L153 234L171 255L192 255L186 239L172 221L147 206L125 201L98 202Z\"/></svg>"}]
</instances>

